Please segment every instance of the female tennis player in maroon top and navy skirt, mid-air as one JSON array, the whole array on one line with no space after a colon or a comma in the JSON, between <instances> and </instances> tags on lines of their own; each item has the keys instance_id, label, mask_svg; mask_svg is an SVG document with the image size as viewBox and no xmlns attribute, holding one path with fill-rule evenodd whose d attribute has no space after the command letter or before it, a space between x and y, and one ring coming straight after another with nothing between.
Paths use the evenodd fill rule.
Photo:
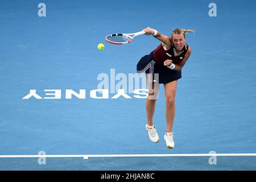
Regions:
<instances>
[{"instance_id":1,"label":"female tennis player in maroon top and navy skirt, mid-air","mask_svg":"<svg viewBox=\"0 0 256 182\"><path fill-rule=\"evenodd\" d=\"M181 69L184 67L191 54L191 48L185 43L185 33L193 31L176 28L172 31L171 38L160 34L159 31L150 27L145 28L143 31L146 32L146 35L153 35L161 42L154 51L149 55L143 56L137 64L137 72L146 72L147 77L148 98L146 100L146 130L152 142L156 143L159 141L158 133L153 123L153 115L156 99L158 97L158 84L164 84L167 123L164 140L166 140L166 146L168 148L174 148L172 126L175 116L177 80L181 78Z\"/></svg>"}]
</instances>

